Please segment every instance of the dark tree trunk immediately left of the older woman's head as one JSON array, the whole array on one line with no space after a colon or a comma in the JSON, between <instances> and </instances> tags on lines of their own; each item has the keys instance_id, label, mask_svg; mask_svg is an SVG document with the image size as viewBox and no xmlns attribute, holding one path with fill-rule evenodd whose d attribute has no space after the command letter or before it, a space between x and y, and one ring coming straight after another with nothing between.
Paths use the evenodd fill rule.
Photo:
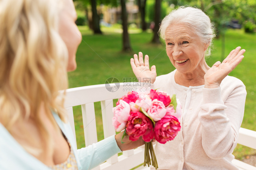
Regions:
<instances>
[{"instance_id":1,"label":"dark tree trunk immediately left of the older woman's head","mask_svg":"<svg viewBox=\"0 0 256 170\"><path fill-rule=\"evenodd\" d=\"M160 39L159 39L159 36L158 36L158 30L159 30L159 24L160 24L160 12L161 12L161 0L156 0L156 3L155 3L155 19L154 19L154 22L155 22L155 26L154 26L154 29L153 29L153 39L152 39L152 42L153 43L157 43L157 44L160 44Z\"/></svg>"}]
</instances>

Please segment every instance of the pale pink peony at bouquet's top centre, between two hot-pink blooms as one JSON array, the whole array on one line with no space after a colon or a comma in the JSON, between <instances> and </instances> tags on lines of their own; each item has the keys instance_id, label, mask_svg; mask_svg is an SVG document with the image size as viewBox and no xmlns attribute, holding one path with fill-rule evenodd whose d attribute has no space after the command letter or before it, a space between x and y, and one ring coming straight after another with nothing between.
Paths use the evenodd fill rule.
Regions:
<instances>
[{"instance_id":1,"label":"pale pink peony at bouquet's top centre, between two hot-pink blooms","mask_svg":"<svg viewBox=\"0 0 256 170\"><path fill-rule=\"evenodd\" d=\"M143 110L147 111L151 107L151 104L152 104L151 98L149 98L149 96L147 95L141 94L139 95L135 103L134 102L130 103L130 107L133 112L139 112L140 107L142 107Z\"/></svg>"}]
</instances>

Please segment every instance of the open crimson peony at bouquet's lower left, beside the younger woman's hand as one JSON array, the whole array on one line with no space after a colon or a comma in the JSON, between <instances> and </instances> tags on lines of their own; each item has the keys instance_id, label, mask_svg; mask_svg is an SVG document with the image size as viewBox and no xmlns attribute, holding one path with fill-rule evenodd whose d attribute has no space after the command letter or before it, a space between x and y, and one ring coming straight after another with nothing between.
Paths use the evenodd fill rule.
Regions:
<instances>
[{"instance_id":1,"label":"open crimson peony at bouquet's lower left, beside the younger woman's hand","mask_svg":"<svg viewBox=\"0 0 256 170\"><path fill-rule=\"evenodd\" d=\"M143 113L131 112L126 125L126 133L132 141L136 141L142 136L145 142L150 142L154 138L153 123Z\"/></svg>"}]
</instances>

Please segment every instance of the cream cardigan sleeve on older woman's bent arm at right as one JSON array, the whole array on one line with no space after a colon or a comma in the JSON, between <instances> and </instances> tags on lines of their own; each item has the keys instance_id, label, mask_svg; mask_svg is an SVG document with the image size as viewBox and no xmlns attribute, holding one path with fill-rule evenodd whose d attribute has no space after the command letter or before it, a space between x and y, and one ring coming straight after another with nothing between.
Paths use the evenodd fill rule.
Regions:
<instances>
[{"instance_id":1,"label":"cream cardigan sleeve on older woman's bent arm at right","mask_svg":"<svg viewBox=\"0 0 256 170\"><path fill-rule=\"evenodd\" d=\"M222 96L227 96L223 101ZM203 89L204 104L199 112L202 125L202 146L212 159L231 154L236 147L243 120L246 89L244 85L232 90Z\"/></svg>"}]
</instances>

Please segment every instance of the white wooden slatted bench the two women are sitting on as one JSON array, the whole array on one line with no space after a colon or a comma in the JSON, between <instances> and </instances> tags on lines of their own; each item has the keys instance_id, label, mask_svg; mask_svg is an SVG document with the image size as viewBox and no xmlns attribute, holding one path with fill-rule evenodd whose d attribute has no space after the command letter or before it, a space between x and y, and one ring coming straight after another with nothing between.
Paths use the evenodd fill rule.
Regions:
<instances>
[{"instance_id":1,"label":"white wooden slatted bench the two women are sitting on","mask_svg":"<svg viewBox=\"0 0 256 170\"><path fill-rule=\"evenodd\" d=\"M113 99L121 98L128 91L138 90L142 86L153 88L152 84L145 83L140 85L138 82L125 82L119 84L111 83L107 85L90 85L67 89L65 108L68 111L68 119L74 132L74 138L76 139L76 134L72 107L81 105L85 146L88 146L98 142L94 102L100 101L101 103L104 138L107 138L115 134L115 129L112 125L112 108L114 106ZM256 149L256 132L240 128L238 143ZM134 150L124 151L120 156L117 154L114 155L100 166L94 168L94 170L129 170L140 165L143 161L144 150L137 148ZM232 162L241 170L256 170L256 167L242 161L234 159ZM137 169L148 169L148 167L141 166Z\"/></svg>"}]
</instances>

